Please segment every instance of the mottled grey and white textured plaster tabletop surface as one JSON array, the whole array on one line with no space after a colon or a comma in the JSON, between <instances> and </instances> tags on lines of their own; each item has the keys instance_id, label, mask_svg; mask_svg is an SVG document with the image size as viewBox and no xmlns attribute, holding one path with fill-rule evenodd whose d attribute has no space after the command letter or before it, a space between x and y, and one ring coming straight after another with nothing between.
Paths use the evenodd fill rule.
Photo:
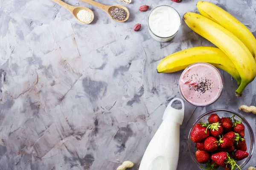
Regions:
<instances>
[{"instance_id":1,"label":"mottled grey and white textured plaster tabletop surface","mask_svg":"<svg viewBox=\"0 0 256 170\"><path fill-rule=\"evenodd\" d=\"M131 18L117 23L98 8L68 0L94 11L93 23L81 25L51 0L0 0L0 68L7 73L0 93L0 170L115 170L125 160L137 170L166 105L181 97L180 72L157 74L157 64L175 51L212 45L184 22L172 42L154 41L147 29L150 11L138 10L165 4L183 16L196 11L198 0L98 1L127 6ZM210 1L256 34L256 0ZM132 29L136 23L142 24L139 32ZM197 169L187 136L199 115L256 105L256 80L238 99L236 82L222 74L218 102L206 108L186 103L178 170ZM255 132L256 117L242 114ZM249 165L256 165L256 153Z\"/></svg>"}]
</instances>

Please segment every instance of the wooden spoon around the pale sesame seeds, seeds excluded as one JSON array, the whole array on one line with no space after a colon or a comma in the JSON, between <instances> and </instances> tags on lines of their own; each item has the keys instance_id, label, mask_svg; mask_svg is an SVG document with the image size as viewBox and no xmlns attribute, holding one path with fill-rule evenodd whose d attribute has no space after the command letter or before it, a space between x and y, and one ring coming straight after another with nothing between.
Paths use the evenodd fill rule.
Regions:
<instances>
[{"instance_id":1,"label":"wooden spoon around the pale sesame seeds, seeds excluded","mask_svg":"<svg viewBox=\"0 0 256 170\"><path fill-rule=\"evenodd\" d=\"M68 5L67 3L64 3L63 1L61 0L52 0L53 2L55 3L58 3L60 6L63 6L64 8L66 8L68 11L71 12L71 14L74 15L74 17L80 22L80 23L83 23L83 24L90 24L91 22L93 22L93 19L94 19L94 14L93 14L93 11L90 10L89 8L85 8L85 7L82 7L82 6L71 6L71 5ZM85 11L88 11L92 14L92 19L85 23L81 20L78 19L77 17L77 13L80 11L80 10L85 10Z\"/></svg>"}]
</instances>

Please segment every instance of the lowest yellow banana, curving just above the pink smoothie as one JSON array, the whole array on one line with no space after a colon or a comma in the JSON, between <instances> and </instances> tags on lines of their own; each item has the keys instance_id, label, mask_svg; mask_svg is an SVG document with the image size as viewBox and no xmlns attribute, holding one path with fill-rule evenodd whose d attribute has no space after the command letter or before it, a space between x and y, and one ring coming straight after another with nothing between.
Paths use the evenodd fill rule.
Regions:
<instances>
[{"instance_id":1,"label":"lowest yellow banana, curving just above the pink smoothie","mask_svg":"<svg viewBox=\"0 0 256 170\"><path fill-rule=\"evenodd\" d=\"M207 62L227 71L240 85L241 77L231 59L216 47L193 47L165 57L158 65L158 73L173 73L195 62Z\"/></svg>"}]
</instances>

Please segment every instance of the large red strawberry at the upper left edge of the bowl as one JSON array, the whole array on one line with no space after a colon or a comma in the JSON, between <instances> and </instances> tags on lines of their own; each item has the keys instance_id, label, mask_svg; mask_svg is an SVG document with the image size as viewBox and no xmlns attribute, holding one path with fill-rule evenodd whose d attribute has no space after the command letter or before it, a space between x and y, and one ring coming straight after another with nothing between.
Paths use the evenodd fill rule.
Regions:
<instances>
[{"instance_id":1,"label":"large red strawberry at the upper left edge of the bowl","mask_svg":"<svg viewBox=\"0 0 256 170\"><path fill-rule=\"evenodd\" d=\"M203 142L208 136L210 136L210 131L204 123L195 125L190 134L191 140L195 143Z\"/></svg>"}]
</instances>

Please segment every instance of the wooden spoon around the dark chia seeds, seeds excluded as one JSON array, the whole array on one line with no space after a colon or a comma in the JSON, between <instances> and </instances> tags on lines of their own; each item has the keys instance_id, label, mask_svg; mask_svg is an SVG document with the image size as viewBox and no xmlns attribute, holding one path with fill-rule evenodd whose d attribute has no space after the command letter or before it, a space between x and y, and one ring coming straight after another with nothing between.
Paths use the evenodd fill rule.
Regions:
<instances>
[{"instance_id":1,"label":"wooden spoon around the dark chia seeds, seeds excluded","mask_svg":"<svg viewBox=\"0 0 256 170\"><path fill-rule=\"evenodd\" d=\"M93 5L93 6L96 6L96 7L100 8L100 9L102 9L103 11L107 12L108 15L109 15L113 20L115 20L115 21L117 21L117 22L125 22L125 21L127 21L128 18L130 17L130 12L129 12L129 10L128 10L126 7L124 7L124 6L119 6L119 5L115 5L115 6L105 6L105 5L101 4L101 3L95 2L95 1L93 1L93 0L81 0L81 1L83 1L83 2L85 2L85 3L89 3L90 5ZM127 17L125 18L125 20L116 20L116 19L114 19L114 18L111 16L111 13L110 13L113 8L122 8L122 9L124 9L124 10L126 11L126 13L127 13Z\"/></svg>"}]
</instances>

